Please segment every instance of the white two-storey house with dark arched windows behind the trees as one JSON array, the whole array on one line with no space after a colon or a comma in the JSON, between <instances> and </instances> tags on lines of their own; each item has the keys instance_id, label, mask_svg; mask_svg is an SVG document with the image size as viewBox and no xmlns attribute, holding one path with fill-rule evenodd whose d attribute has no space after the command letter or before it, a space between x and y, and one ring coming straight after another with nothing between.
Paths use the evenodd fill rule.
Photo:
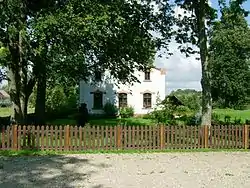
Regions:
<instances>
[{"instance_id":1,"label":"white two-storey house with dark arched windows behind the trees","mask_svg":"<svg viewBox=\"0 0 250 188\"><path fill-rule=\"evenodd\" d=\"M132 106L136 115L151 112L157 99L165 98L165 74L160 68L152 68L147 72L135 72L141 83L117 84L108 72L96 74L99 82L91 79L80 82L80 103L86 103L89 112L102 114L103 106L107 102L117 107Z\"/></svg>"}]
</instances>

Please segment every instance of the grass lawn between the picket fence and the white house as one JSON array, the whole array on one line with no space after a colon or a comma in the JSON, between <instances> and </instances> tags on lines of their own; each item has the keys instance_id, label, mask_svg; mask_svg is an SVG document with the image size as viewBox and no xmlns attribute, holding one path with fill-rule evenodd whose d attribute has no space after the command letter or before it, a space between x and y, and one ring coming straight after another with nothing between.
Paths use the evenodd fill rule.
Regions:
<instances>
[{"instance_id":1,"label":"grass lawn between the picket fence and the white house","mask_svg":"<svg viewBox=\"0 0 250 188\"><path fill-rule=\"evenodd\" d=\"M89 124L91 125L152 125L155 124L154 120L151 119L143 119L143 118L108 118L108 119L90 119ZM76 125L76 121L74 119L56 119L54 121L48 122L50 125Z\"/></svg>"}]
</instances>

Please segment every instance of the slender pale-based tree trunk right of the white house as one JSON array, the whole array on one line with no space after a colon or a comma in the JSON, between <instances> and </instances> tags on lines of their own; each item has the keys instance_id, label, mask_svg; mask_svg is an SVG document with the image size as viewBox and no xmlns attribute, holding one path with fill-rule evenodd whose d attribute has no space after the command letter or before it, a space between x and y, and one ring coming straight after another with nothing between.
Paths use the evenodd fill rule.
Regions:
<instances>
[{"instance_id":1,"label":"slender pale-based tree trunk right of the white house","mask_svg":"<svg viewBox=\"0 0 250 188\"><path fill-rule=\"evenodd\" d=\"M200 0L198 26L199 26L199 47L202 67L202 118L201 125L211 126L212 115L212 95L211 95L211 72L208 61L207 35L205 24L205 3L206 0Z\"/></svg>"}]
</instances>

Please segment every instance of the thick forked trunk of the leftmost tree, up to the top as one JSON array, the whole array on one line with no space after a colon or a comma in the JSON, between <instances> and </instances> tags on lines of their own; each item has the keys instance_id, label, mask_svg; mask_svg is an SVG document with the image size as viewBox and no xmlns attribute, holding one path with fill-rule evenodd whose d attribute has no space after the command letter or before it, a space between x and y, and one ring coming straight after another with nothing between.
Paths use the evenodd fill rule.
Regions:
<instances>
[{"instance_id":1,"label":"thick forked trunk of the leftmost tree, up to the top","mask_svg":"<svg viewBox=\"0 0 250 188\"><path fill-rule=\"evenodd\" d=\"M19 9L16 17L18 20L13 21L15 29L9 31L8 48L11 54L11 61L8 63L8 79L10 85L10 97L13 101L14 118L18 124L27 123L28 99L32 93L35 78L29 77L28 59L27 59L27 41L26 40L26 3L18 1Z\"/></svg>"}]
</instances>

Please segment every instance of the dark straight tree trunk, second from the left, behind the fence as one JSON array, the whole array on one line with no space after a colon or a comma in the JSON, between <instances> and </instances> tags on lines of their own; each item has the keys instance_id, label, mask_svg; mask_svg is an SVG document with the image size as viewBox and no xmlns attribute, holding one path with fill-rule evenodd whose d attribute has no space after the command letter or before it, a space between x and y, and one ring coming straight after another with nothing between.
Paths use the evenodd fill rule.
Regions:
<instances>
[{"instance_id":1,"label":"dark straight tree trunk, second from the left, behind the fence","mask_svg":"<svg viewBox=\"0 0 250 188\"><path fill-rule=\"evenodd\" d=\"M40 62L39 76L37 79L37 94L36 94L36 124L44 125L45 117L45 102L46 102L46 66L44 62Z\"/></svg>"}]
</instances>

